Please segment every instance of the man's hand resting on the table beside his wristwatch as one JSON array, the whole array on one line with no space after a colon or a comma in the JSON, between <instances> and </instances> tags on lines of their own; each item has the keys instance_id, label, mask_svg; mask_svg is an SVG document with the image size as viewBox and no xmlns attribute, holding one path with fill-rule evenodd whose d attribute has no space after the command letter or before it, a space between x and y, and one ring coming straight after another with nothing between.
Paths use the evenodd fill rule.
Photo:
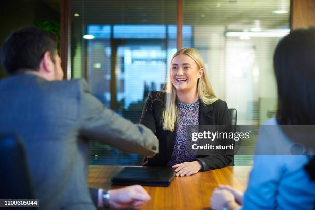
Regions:
<instances>
[{"instance_id":1,"label":"man's hand resting on the table beside his wristwatch","mask_svg":"<svg viewBox=\"0 0 315 210\"><path fill-rule=\"evenodd\" d=\"M146 201L151 199L147 191L140 185L111 189L108 191L108 194L110 195L110 207L116 209L139 209Z\"/></svg>"}]
</instances>

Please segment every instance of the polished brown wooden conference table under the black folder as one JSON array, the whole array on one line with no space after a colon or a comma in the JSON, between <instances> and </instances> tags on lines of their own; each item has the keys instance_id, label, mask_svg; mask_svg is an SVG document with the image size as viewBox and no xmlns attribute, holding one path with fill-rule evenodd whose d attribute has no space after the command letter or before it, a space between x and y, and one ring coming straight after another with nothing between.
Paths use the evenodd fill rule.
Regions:
<instances>
[{"instance_id":1,"label":"polished brown wooden conference table under the black folder","mask_svg":"<svg viewBox=\"0 0 315 210\"><path fill-rule=\"evenodd\" d=\"M110 178L122 166L90 166L89 187L116 189ZM247 186L252 167L234 166L199 172L189 177L174 177L168 187L144 187L151 200L142 209L211 209L209 198L219 184L240 190Z\"/></svg>"}]
</instances>

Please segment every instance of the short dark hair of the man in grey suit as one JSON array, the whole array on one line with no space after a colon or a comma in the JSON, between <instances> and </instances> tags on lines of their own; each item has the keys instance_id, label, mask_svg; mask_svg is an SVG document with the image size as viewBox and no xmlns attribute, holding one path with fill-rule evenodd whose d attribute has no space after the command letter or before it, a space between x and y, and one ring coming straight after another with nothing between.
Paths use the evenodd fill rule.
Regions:
<instances>
[{"instance_id":1,"label":"short dark hair of the man in grey suit","mask_svg":"<svg viewBox=\"0 0 315 210\"><path fill-rule=\"evenodd\" d=\"M21 28L12 32L4 41L1 50L1 63L8 75L22 69L37 71L48 51L55 62L58 38L55 34L35 27Z\"/></svg>"}]
</instances>

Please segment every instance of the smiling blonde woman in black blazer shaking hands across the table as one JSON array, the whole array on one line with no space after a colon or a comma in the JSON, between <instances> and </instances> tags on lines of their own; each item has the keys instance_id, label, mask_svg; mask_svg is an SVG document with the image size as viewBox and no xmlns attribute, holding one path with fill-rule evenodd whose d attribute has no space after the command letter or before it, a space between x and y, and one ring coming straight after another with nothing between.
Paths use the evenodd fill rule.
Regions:
<instances>
[{"instance_id":1,"label":"smiling blonde woman in black blazer shaking hands across the table","mask_svg":"<svg viewBox=\"0 0 315 210\"><path fill-rule=\"evenodd\" d=\"M196 49L183 48L173 55L166 90L150 93L140 122L155 133L160 148L143 165L172 166L177 176L190 176L232 163L232 155L198 156L184 149L187 125L231 124L228 105L215 96Z\"/></svg>"}]
</instances>

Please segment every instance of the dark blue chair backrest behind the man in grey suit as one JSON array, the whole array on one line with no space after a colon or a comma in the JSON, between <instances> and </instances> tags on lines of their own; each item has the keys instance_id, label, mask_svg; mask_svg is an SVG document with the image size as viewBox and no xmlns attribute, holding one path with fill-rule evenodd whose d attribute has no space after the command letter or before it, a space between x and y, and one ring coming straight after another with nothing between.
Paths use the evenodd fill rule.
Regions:
<instances>
[{"instance_id":1,"label":"dark blue chair backrest behind the man in grey suit","mask_svg":"<svg viewBox=\"0 0 315 210\"><path fill-rule=\"evenodd\" d=\"M22 139L0 135L0 199L34 199Z\"/></svg>"}]
</instances>

